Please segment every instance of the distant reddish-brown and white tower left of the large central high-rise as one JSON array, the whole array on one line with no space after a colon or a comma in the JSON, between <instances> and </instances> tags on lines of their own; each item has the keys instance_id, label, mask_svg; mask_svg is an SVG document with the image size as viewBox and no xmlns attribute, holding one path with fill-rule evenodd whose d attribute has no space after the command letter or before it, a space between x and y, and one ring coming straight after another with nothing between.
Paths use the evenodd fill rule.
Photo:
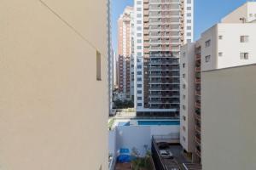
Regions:
<instances>
[{"instance_id":1,"label":"distant reddish-brown and white tower left of the large central high-rise","mask_svg":"<svg viewBox=\"0 0 256 170\"><path fill-rule=\"evenodd\" d=\"M118 20L119 94L131 99L131 65L134 54L133 8L126 7Z\"/></svg>"}]
</instances>

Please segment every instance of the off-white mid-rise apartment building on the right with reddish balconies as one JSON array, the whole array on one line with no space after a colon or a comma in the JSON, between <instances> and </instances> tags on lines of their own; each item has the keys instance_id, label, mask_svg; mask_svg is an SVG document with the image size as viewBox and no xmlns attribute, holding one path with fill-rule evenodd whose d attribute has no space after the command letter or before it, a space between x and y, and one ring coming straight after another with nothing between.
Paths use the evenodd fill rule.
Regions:
<instances>
[{"instance_id":1,"label":"off-white mid-rise apartment building on the right with reddish balconies","mask_svg":"<svg viewBox=\"0 0 256 170\"><path fill-rule=\"evenodd\" d=\"M255 11L255 2L245 3L224 17L221 23L203 32L197 42L189 43L183 47L182 54L184 59L181 59L181 74L184 74L181 77L181 82L183 83L181 84L181 88L183 87L181 97L183 96L183 99L181 99L180 105L181 124L183 126L181 128L181 144L185 151L192 153L194 161L201 161L201 150L204 152L203 144L207 142L204 141L204 135L208 138L211 135L211 133L207 134L204 127L201 126L206 125L202 116L208 114L205 113L207 110L201 111L204 105L202 95L204 95L205 99L212 98L212 96L207 96L209 93L203 88L205 85L203 84L202 74L205 71L256 63L256 59L253 57L256 55ZM193 78L190 78L193 77L191 74L193 71L195 72L194 82ZM221 81L221 78L219 80ZM186 88L193 86L195 89ZM220 95L219 99L221 98ZM194 109L189 109L193 105L195 105ZM195 112L193 112L194 110ZM193 116L195 116L194 120L189 119L189 117ZM191 124L194 124L194 126L191 126ZM194 132L195 137L189 138L188 132ZM195 150L189 149L188 145L194 145ZM234 150L236 149L234 148ZM212 153L208 152L207 154L210 155ZM205 159L204 156L202 156L203 159Z\"/></svg>"}]
</instances>

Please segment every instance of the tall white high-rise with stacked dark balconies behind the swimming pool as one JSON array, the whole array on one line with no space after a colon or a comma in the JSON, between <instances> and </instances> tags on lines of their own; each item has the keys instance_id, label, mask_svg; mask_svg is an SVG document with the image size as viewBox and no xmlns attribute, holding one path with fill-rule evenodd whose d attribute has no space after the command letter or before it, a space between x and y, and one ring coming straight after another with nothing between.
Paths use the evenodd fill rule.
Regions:
<instances>
[{"instance_id":1,"label":"tall white high-rise with stacked dark balconies behind the swimming pool","mask_svg":"<svg viewBox=\"0 0 256 170\"><path fill-rule=\"evenodd\" d=\"M178 116L181 45L193 41L192 0L135 0L137 115Z\"/></svg>"}]
</instances>

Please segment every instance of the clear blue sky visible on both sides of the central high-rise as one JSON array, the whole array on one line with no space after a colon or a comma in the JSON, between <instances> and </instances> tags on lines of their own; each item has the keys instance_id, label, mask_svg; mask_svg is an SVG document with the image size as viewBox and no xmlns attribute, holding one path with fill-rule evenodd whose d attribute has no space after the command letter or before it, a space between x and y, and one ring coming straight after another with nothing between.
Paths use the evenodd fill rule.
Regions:
<instances>
[{"instance_id":1,"label":"clear blue sky visible on both sides of the central high-rise","mask_svg":"<svg viewBox=\"0 0 256 170\"><path fill-rule=\"evenodd\" d=\"M134 0L112 0L112 39L117 51L117 21L126 6L133 6ZM246 3L247 0L194 0L195 1L195 40L203 31L217 24L226 14Z\"/></svg>"}]
</instances>

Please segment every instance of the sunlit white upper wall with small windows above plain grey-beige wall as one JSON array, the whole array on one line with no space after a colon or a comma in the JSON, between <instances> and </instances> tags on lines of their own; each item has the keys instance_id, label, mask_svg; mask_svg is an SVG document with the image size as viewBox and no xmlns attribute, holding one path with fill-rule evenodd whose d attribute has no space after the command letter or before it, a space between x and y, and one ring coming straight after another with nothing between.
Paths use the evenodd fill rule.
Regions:
<instances>
[{"instance_id":1,"label":"sunlit white upper wall with small windows above plain grey-beige wall","mask_svg":"<svg viewBox=\"0 0 256 170\"><path fill-rule=\"evenodd\" d=\"M256 32L254 30L256 30L254 23L220 23L205 31L197 42L201 46L202 71L255 63L256 59L253 56L256 55L254 50ZM241 36L248 36L248 42L240 42ZM210 46L207 47L206 42L209 40ZM241 59L241 53L248 53L248 59ZM210 56L208 62L207 56Z\"/></svg>"}]
</instances>

